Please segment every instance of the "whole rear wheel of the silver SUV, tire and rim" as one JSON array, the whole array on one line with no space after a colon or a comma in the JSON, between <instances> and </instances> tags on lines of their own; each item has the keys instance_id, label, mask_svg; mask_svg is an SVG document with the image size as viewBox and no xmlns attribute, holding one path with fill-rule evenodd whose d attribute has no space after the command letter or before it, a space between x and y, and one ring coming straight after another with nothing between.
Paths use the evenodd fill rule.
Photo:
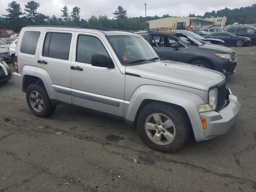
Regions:
<instances>
[{"instance_id":1,"label":"whole rear wheel of the silver SUV, tire and rim","mask_svg":"<svg viewBox=\"0 0 256 192\"><path fill-rule=\"evenodd\" d=\"M56 110L56 106L50 102L50 98L42 84L36 83L28 86L26 99L28 107L38 117L48 117Z\"/></svg>"}]
</instances>

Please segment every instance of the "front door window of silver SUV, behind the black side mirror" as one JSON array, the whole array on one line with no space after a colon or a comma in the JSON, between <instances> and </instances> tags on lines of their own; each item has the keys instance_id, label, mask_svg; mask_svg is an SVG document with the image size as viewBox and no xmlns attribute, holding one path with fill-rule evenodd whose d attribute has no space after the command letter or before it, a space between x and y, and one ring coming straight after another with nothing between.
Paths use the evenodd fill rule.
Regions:
<instances>
[{"instance_id":1,"label":"front door window of silver SUV, behind the black side mirror","mask_svg":"<svg viewBox=\"0 0 256 192\"><path fill-rule=\"evenodd\" d=\"M76 50L76 61L92 64L93 54L102 54L108 57L106 49L98 38L79 35Z\"/></svg>"}]
</instances>

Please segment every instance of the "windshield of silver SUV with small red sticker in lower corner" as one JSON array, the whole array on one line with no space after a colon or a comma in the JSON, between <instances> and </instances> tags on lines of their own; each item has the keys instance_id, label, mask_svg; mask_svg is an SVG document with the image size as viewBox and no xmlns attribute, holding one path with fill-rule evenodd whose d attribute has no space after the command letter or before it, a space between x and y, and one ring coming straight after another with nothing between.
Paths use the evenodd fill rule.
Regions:
<instances>
[{"instance_id":1,"label":"windshield of silver SUV with small red sticker in lower corner","mask_svg":"<svg viewBox=\"0 0 256 192\"><path fill-rule=\"evenodd\" d=\"M159 60L152 46L140 36L108 36L108 40L124 66L145 64Z\"/></svg>"}]
</instances>

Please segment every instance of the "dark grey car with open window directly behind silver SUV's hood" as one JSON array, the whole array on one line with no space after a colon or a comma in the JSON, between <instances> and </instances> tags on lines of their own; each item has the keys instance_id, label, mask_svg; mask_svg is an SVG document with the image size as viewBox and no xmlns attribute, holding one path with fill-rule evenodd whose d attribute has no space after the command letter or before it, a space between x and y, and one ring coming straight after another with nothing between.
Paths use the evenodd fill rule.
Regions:
<instances>
[{"instance_id":1,"label":"dark grey car with open window directly behind silver SUV's hood","mask_svg":"<svg viewBox=\"0 0 256 192\"><path fill-rule=\"evenodd\" d=\"M138 33L158 52L160 57L210 68L225 75L236 72L236 53L225 46L201 43L182 33Z\"/></svg>"}]
</instances>

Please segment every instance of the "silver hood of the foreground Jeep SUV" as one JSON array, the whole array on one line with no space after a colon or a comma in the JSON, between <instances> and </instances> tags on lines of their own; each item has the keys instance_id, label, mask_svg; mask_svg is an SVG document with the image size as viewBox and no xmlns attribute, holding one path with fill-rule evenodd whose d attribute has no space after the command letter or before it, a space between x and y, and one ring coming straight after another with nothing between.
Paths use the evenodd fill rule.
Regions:
<instances>
[{"instance_id":1,"label":"silver hood of the foreground Jeep SUV","mask_svg":"<svg viewBox=\"0 0 256 192\"><path fill-rule=\"evenodd\" d=\"M204 91L225 80L220 72L170 60L127 66L126 73Z\"/></svg>"}]
</instances>

